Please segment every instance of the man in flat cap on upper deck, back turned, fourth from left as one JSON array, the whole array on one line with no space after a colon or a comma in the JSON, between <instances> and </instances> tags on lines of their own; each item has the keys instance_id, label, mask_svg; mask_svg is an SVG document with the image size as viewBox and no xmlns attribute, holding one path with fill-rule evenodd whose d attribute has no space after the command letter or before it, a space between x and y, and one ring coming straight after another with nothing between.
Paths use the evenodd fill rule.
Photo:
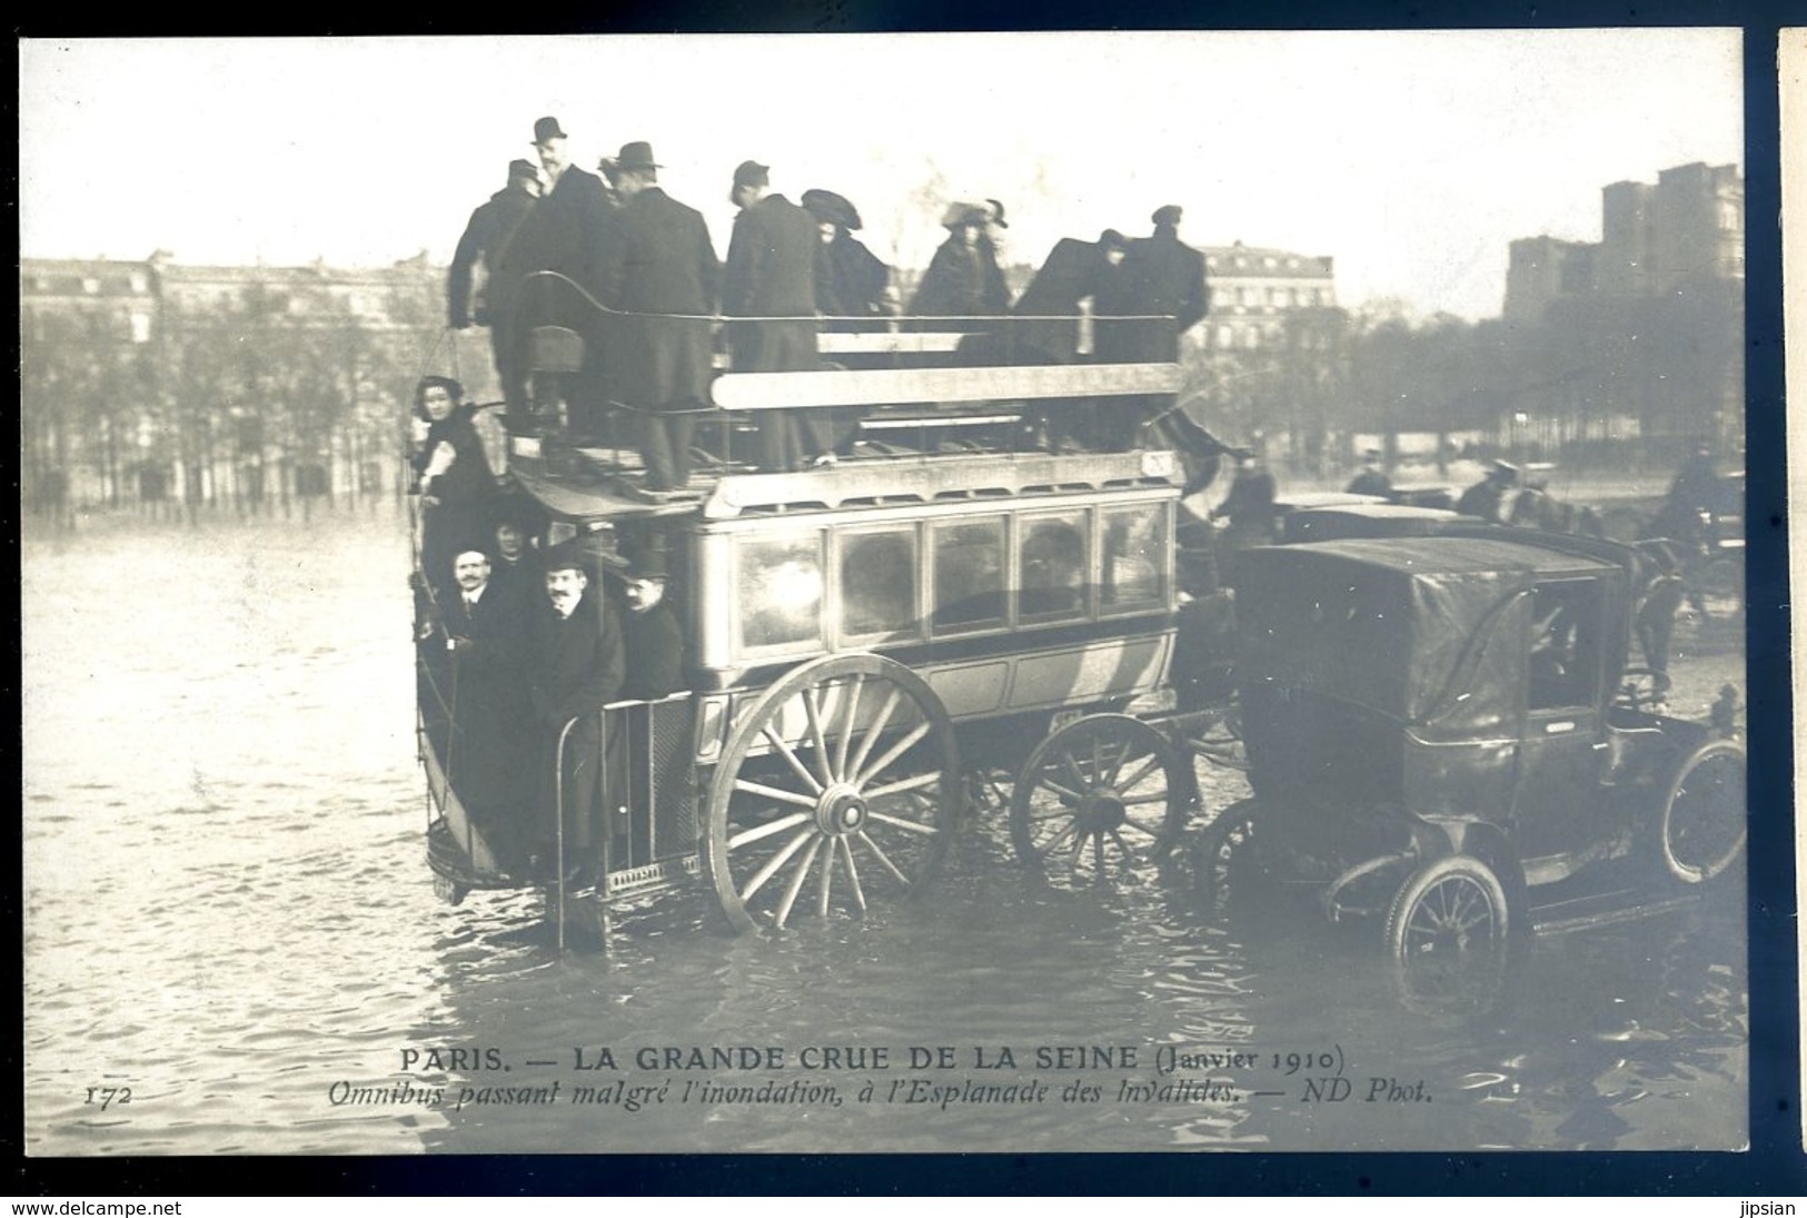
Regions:
<instances>
[{"instance_id":1,"label":"man in flat cap on upper deck, back turned, fourth from left","mask_svg":"<svg viewBox=\"0 0 1807 1218\"><path fill-rule=\"evenodd\" d=\"M815 220L784 195L768 193L770 170L743 161L734 170L728 199L741 210L728 239L721 311L763 318L730 322L728 351L735 372L815 372L815 257L820 244ZM759 464L801 470L831 459L826 428L808 410L759 412Z\"/></svg>"}]
</instances>

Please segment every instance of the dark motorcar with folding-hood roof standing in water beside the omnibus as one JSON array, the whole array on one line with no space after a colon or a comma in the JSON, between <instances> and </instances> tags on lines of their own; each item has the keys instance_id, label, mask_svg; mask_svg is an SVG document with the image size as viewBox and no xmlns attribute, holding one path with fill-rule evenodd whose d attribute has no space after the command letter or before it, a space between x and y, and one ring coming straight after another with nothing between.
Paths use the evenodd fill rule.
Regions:
<instances>
[{"instance_id":1,"label":"dark motorcar with folding-hood roof standing in water beside the omnibus","mask_svg":"<svg viewBox=\"0 0 1807 1218\"><path fill-rule=\"evenodd\" d=\"M1252 795L1198 849L1211 902L1308 891L1402 965L1503 947L1540 896L1624 864L1706 884L1746 840L1726 723L1632 663L1639 555L1525 531L1250 549L1236 566Z\"/></svg>"}]
</instances>

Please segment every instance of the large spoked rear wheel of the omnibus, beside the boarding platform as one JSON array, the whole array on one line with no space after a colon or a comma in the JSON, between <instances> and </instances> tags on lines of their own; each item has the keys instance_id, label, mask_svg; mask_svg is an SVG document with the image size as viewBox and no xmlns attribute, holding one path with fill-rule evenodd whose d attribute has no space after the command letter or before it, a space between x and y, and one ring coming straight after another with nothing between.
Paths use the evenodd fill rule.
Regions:
<instances>
[{"instance_id":1,"label":"large spoked rear wheel of the omnibus, beside the boarding platform","mask_svg":"<svg viewBox=\"0 0 1807 1218\"><path fill-rule=\"evenodd\" d=\"M954 728L929 683L873 654L768 689L708 792L703 866L735 931L913 896L961 808Z\"/></svg>"}]
</instances>

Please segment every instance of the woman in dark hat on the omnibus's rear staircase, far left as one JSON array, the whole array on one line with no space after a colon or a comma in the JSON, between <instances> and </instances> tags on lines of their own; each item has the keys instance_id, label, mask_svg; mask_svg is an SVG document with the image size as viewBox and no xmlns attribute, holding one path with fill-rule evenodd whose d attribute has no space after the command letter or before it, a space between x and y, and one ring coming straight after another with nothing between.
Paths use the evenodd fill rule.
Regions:
<instances>
[{"instance_id":1,"label":"woman in dark hat on the omnibus's rear staircase, far left","mask_svg":"<svg viewBox=\"0 0 1807 1218\"><path fill-rule=\"evenodd\" d=\"M452 560L464 546L488 549L495 473L473 425L477 410L450 376L423 376L414 387L421 490L421 569L435 589L452 586Z\"/></svg>"}]
</instances>

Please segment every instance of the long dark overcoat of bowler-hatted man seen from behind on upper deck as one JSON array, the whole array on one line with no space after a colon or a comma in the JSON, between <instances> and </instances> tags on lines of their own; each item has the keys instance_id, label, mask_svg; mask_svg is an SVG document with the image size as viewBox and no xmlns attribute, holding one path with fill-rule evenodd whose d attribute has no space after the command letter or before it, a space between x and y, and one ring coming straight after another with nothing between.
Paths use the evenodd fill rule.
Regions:
<instances>
[{"instance_id":1,"label":"long dark overcoat of bowler-hatted man seen from behind on upper deck","mask_svg":"<svg viewBox=\"0 0 1807 1218\"><path fill-rule=\"evenodd\" d=\"M622 392L636 407L708 401L721 260L703 213L647 186L620 211L604 289L622 318ZM665 316L645 316L665 314ZM678 314L678 316L670 316Z\"/></svg>"}]
</instances>

